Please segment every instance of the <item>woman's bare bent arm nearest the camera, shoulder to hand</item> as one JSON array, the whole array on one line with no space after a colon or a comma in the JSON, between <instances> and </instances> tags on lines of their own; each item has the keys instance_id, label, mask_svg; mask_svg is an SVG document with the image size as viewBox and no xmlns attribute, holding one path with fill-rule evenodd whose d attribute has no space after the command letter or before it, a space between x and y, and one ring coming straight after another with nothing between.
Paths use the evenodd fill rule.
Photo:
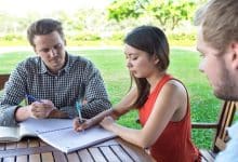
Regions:
<instances>
[{"instance_id":1,"label":"woman's bare bent arm nearest the camera, shoulder to hand","mask_svg":"<svg viewBox=\"0 0 238 162\"><path fill-rule=\"evenodd\" d=\"M129 143L147 148L158 139L170 121L182 120L186 114L186 109L187 95L185 89L181 83L170 81L162 87L142 130L118 125L109 117L105 118L101 125Z\"/></svg>"}]
</instances>

